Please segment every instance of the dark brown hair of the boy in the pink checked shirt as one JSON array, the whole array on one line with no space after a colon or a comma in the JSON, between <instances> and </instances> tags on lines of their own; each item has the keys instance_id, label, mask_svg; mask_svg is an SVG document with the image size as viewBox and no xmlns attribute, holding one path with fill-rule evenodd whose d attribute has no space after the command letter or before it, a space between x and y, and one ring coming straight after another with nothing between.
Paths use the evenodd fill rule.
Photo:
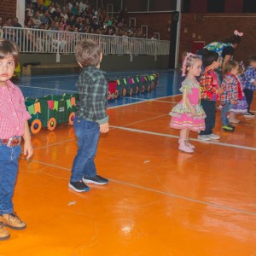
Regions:
<instances>
[{"instance_id":1,"label":"dark brown hair of the boy in the pink checked shirt","mask_svg":"<svg viewBox=\"0 0 256 256\"><path fill-rule=\"evenodd\" d=\"M8 39L0 39L0 59L11 55L15 59L15 67L18 66L20 50L18 45Z\"/></svg>"}]
</instances>

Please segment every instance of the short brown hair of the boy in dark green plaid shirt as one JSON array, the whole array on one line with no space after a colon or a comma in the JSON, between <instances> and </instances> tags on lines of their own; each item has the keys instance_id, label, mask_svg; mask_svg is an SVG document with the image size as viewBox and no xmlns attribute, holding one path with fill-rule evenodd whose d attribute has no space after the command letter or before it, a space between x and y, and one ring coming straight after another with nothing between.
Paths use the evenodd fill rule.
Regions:
<instances>
[{"instance_id":1,"label":"short brown hair of the boy in dark green plaid shirt","mask_svg":"<svg viewBox=\"0 0 256 256\"><path fill-rule=\"evenodd\" d=\"M80 41L75 47L76 60L83 67L96 67L101 61L101 53L99 45L88 39Z\"/></svg>"}]
</instances>

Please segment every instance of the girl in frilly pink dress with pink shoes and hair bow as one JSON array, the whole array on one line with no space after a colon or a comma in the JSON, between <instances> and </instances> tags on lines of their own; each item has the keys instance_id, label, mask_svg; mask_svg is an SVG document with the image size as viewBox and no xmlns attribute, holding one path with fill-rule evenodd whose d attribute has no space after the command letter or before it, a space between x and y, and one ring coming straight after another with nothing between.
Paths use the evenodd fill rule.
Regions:
<instances>
[{"instance_id":1,"label":"girl in frilly pink dress with pink shoes and hair bow","mask_svg":"<svg viewBox=\"0 0 256 256\"><path fill-rule=\"evenodd\" d=\"M195 149L195 146L189 143L189 131L205 130L206 114L200 105L200 85L195 79L201 73L201 65L201 59L193 54L189 53L184 58L182 71L183 76L187 75L187 78L180 89L183 99L170 113L170 126L180 129L178 149L186 153L193 153Z\"/></svg>"}]
</instances>

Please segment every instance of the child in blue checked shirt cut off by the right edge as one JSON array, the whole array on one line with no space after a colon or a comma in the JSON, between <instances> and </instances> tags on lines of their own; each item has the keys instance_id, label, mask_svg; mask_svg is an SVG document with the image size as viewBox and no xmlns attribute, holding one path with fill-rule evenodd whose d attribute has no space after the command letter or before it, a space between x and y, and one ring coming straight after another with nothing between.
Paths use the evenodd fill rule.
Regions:
<instances>
[{"instance_id":1,"label":"child in blue checked shirt cut off by the right edge","mask_svg":"<svg viewBox=\"0 0 256 256\"><path fill-rule=\"evenodd\" d=\"M248 111L244 113L244 116L255 117L255 114L250 112L250 108L253 102L253 93L256 90L256 55L251 56L249 61L250 66L244 72L245 89L243 91L248 104Z\"/></svg>"}]
</instances>

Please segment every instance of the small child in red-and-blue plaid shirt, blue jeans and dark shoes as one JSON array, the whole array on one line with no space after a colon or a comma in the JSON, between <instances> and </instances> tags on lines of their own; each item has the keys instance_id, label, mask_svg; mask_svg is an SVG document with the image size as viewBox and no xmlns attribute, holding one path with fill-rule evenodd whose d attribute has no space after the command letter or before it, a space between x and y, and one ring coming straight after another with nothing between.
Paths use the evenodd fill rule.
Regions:
<instances>
[{"instance_id":1,"label":"small child in red-and-blue plaid shirt, blue jeans and dark shoes","mask_svg":"<svg viewBox=\"0 0 256 256\"><path fill-rule=\"evenodd\" d=\"M222 120L222 130L224 131L235 131L235 127L230 125L228 115L230 109L239 100L239 81L236 79L238 73L239 64L236 61L228 61L224 67L224 80L221 84L221 88L224 93L220 96L220 104L222 106L221 120ZM240 96L241 99L242 96Z\"/></svg>"}]
</instances>

